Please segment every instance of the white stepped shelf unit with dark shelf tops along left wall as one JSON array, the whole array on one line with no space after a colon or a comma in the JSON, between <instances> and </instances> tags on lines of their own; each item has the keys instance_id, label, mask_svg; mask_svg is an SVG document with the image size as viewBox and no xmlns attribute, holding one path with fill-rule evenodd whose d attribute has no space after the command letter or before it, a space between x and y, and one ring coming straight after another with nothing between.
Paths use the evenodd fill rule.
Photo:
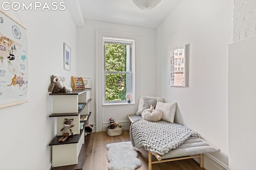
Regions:
<instances>
[{"instance_id":1,"label":"white stepped shelf unit with dark shelf tops along left wall","mask_svg":"<svg viewBox=\"0 0 256 170\"><path fill-rule=\"evenodd\" d=\"M56 117L57 119L57 134L49 144L49 146L52 146L53 168L78 164L78 160L80 160L79 153L82 148L86 148L84 146L87 145L84 142L84 127L86 123L90 125L90 90L91 88L86 88L68 93L49 94L52 97L52 113L49 117ZM84 104L84 107L78 109L78 104ZM88 115L87 121L80 121L80 115ZM72 129L72 132L76 132L76 135L68 137L64 142L59 142L58 139L62 137L62 131L60 130L64 127L64 119L73 119L72 125L74 127L70 129ZM80 122L84 122L82 129L80 129ZM88 139L88 137L86 138Z\"/></svg>"}]
</instances>

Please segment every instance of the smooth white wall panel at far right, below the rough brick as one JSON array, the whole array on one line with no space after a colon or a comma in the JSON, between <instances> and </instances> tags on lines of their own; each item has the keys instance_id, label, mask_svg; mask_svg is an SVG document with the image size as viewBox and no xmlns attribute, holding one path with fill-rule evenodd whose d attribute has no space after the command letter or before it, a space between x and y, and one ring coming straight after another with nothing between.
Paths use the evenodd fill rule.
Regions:
<instances>
[{"instance_id":1,"label":"smooth white wall panel at far right, below the rough brick","mask_svg":"<svg viewBox=\"0 0 256 170\"><path fill-rule=\"evenodd\" d=\"M229 46L228 128L230 170L255 170L256 37Z\"/></svg>"}]
</instances>

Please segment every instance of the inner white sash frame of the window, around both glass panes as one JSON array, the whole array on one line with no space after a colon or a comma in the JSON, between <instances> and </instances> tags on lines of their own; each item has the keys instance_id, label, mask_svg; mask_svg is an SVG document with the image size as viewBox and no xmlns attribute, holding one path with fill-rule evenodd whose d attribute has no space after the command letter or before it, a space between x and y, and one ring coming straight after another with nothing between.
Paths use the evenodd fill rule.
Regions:
<instances>
[{"instance_id":1,"label":"inner white sash frame of the window, around both glass panes","mask_svg":"<svg viewBox=\"0 0 256 170\"><path fill-rule=\"evenodd\" d=\"M121 45L130 45L130 71L122 71L122 72L116 72L116 71L106 71L105 70L105 44L106 43L109 43L109 44L121 44ZM134 40L131 40L131 39L117 39L117 38L109 38L109 37L103 37L103 44L104 44L104 48L103 48L103 51L104 51L104 69L103 69L103 72L102 72L102 78L103 78L103 84L102 84L102 87L103 87L103 104L108 104L108 105L111 105L111 104L126 104L127 103L127 100L115 100L115 101L106 101L106 73L117 73L117 74L130 74L130 94L132 94L132 96L134 96L134 93L133 93L133 89L134 89L134 76L133 76L133 73L134 73L134 66L133 66L133 61L134 61L134 55L133 55L133 51L134 51ZM133 98L131 99L131 103L133 103Z\"/></svg>"}]
</instances>

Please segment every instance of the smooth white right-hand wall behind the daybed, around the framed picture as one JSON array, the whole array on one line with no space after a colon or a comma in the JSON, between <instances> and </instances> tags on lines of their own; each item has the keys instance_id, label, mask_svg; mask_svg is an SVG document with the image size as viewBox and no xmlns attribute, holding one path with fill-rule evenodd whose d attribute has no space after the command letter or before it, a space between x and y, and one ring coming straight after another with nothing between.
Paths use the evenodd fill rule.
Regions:
<instances>
[{"instance_id":1,"label":"smooth white right-hand wall behind the daybed, around the framed picture","mask_svg":"<svg viewBox=\"0 0 256 170\"><path fill-rule=\"evenodd\" d=\"M228 165L228 44L233 0L182 0L157 28L158 94L178 102L175 121L221 149ZM189 44L189 86L168 86L168 52ZM205 166L207 170L212 167Z\"/></svg>"}]
</instances>

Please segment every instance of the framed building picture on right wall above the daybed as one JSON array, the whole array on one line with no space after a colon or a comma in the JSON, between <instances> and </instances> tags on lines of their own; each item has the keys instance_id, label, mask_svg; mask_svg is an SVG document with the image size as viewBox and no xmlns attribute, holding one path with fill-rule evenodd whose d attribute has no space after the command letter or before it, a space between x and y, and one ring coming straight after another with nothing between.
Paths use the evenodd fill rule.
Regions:
<instances>
[{"instance_id":1,"label":"framed building picture on right wall above the daybed","mask_svg":"<svg viewBox=\"0 0 256 170\"><path fill-rule=\"evenodd\" d=\"M169 86L188 86L187 46L169 52Z\"/></svg>"}]
</instances>

